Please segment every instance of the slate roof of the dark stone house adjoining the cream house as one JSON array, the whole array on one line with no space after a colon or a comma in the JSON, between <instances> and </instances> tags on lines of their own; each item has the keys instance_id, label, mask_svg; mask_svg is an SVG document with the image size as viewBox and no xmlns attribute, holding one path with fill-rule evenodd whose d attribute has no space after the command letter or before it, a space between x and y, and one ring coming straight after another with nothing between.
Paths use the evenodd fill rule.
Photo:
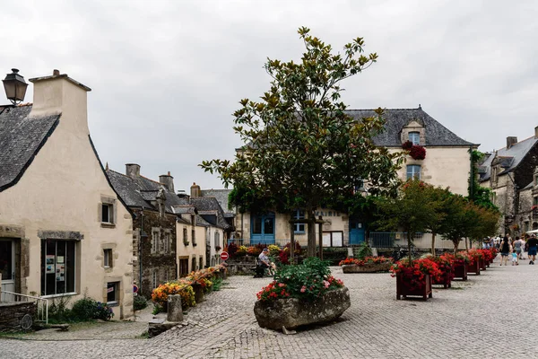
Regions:
<instances>
[{"instance_id":1,"label":"slate roof of the dark stone house adjoining the cream house","mask_svg":"<svg viewBox=\"0 0 538 359\"><path fill-rule=\"evenodd\" d=\"M117 171L107 170L108 179L112 183L112 187L117 194L124 200L127 206L144 207L153 210L159 210L158 206L152 206L152 201L155 200L159 189L164 188L166 197L165 210L173 214L172 206L181 206L178 196L170 192L161 183L154 180L146 179L143 176L138 176L132 179L125 174Z\"/></svg>"}]
</instances>

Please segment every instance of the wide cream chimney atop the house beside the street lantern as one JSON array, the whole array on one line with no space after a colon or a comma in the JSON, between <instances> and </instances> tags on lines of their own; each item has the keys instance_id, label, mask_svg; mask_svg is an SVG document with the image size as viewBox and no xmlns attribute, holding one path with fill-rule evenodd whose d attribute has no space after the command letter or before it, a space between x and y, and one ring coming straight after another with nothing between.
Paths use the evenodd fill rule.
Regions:
<instances>
[{"instance_id":1,"label":"wide cream chimney atop the house beside the street lantern","mask_svg":"<svg viewBox=\"0 0 538 359\"><path fill-rule=\"evenodd\" d=\"M88 128L88 93L91 88L67 74L54 70L50 76L36 77L33 83L33 106L30 118L61 114L58 129L70 134L90 135Z\"/></svg>"}]
</instances>

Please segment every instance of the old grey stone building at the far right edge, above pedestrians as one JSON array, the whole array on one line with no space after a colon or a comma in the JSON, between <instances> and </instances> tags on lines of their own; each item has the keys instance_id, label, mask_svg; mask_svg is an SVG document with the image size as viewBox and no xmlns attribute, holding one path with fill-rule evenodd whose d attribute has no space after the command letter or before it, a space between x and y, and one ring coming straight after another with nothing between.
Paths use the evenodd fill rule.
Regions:
<instances>
[{"instance_id":1,"label":"old grey stone building at the far right edge, above pedestrians","mask_svg":"<svg viewBox=\"0 0 538 359\"><path fill-rule=\"evenodd\" d=\"M493 192L493 203L499 207L499 234L519 235L538 228L538 127L534 136L517 142L508 136L506 147L486 153L479 168L480 184ZM536 207L533 207L536 206Z\"/></svg>"}]
</instances>

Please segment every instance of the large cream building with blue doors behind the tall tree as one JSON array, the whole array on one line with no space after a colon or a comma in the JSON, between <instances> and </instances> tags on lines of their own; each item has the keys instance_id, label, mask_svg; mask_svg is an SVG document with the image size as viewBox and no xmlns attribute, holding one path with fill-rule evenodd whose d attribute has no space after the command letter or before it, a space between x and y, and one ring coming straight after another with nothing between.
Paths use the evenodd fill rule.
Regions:
<instances>
[{"instance_id":1,"label":"large cream building with blue doors behind the tall tree","mask_svg":"<svg viewBox=\"0 0 538 359\"><path fill-rule=\"evenodd\" d=\"M351 109L348 114L360 121L361 118L377 116L373 109ZM403 167L398 171L401 180L419 178L433 186L450 188L454 193L467 196L468 180L471 171L470 151L478 144L467 142L432 118L421 107L418 109L386 109L385 131L373 138L374 143L389 151L402 151L405 142L421 145L426 150L424 159L407 156ZM358 188L368 193L368 180ZM341 247L360 244L365 241L366 223L362 218L334 211L330 208L317 208L323 224L323 244L326 247ZM291 219L304 218L298 208L292 214L238 214L236 217L240 238L249 243L277 243L283 245L291 239ZM295 240L307 244L306 224L294 225ZM318 227L316 229L318 231Z\"/></svg>"}]
</instances>

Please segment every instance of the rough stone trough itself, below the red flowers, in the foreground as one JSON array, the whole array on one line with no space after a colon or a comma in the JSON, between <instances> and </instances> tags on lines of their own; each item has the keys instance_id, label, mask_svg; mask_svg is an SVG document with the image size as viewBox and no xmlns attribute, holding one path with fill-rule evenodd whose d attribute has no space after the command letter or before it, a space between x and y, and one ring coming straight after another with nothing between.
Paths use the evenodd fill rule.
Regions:
<instances>
[{"instance_id":1,"label":"rough stone trough itself, below the red flowers, in the foreground","mask_svg":"<svg viewBox=\"0 0 538 359\"><path fill-rule=\"evenodd\" d=\"M310 302L297 298L257 301L254 314L260 327L282 330L335 320L350 305L350 291L344 286Z\"/></svg>"}]
</instances>

